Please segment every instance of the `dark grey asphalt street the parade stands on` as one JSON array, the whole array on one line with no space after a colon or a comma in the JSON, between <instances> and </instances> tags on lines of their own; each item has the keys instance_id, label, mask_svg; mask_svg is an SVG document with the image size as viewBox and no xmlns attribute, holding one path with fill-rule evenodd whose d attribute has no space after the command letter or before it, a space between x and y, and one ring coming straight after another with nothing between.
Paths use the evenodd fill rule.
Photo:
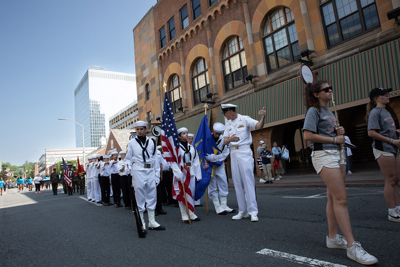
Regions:
<instances>
[{"instance_id":1,"label":"dark grey asphalt street the parade stands on","mask_svg":"<svg viewBox=\"0 0 400 267\"><path fill-rule=\"evenodd\" d=\"M168 214L156 221L166 231L150 230L145 239L130 211L61 190L3 193L0 266L362 266L325 246L324 188L257 189L258 222L216 215L210 201L206 215L204 196L195 209L201 221L192 225L180 221L178 208L163 207ZM237 209L229 192L228 206ZM378 258L374 266L399 266L400 223L387 219L383 188L351 187L348 195L356 241Z\"/></svg>"}]
</instances>

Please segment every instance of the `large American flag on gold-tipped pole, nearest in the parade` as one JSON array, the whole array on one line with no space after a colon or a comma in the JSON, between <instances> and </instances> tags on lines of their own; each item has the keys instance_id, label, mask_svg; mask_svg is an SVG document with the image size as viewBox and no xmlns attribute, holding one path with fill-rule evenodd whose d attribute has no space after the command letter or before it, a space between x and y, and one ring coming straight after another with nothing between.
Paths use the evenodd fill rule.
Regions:
<instances>
[{"instance_id":1,"label":"large American flag on gold-tipped pole, nearest in the parade","mask_svg":"<svg viewBox=\"0 0 400 267\"><path fill-rule=\"evenodd\" d=\"M178 131L176 130L174 113L172 112L170 101L168 100L168 93L164 96L164 110L162 111L161 120L161 144L162 151L166 161L176 162L183 173L184 187L186 193L186 199L188 201L188 208L194 211L194 201L192 199L192 191L190 191L190 171L188 167L183 164L179 153L179 138ZM174 176L172 188L172 197L177 201L185 204L185 197L183 195L182 183L178 182L178 179ZM175 190L178 189L178 190Z\"/></svg>"}]
</instances>

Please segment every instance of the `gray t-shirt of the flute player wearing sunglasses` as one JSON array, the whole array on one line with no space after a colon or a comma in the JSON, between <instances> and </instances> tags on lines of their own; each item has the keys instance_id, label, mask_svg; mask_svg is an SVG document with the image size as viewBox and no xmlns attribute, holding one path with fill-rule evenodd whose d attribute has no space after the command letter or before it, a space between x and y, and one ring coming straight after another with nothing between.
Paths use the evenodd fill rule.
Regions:
<instances>
[{"instance_id":1,"label":"gray t-shirt of the flute player wearing sunglasses","mask_svg":"<svg viewBox=\"0 0 400 267\"><path fill-rule=\"evenodd\" d=\"M304 120L304 130L312 131L318 135L335 137L336 118L335 115L328 109L321 107L321 111L317 108L311 107L306 112L306 119ZM310 143L313 151L317 150L339 150L339 145L333 143Z\"/></svg>"}]
</instances>

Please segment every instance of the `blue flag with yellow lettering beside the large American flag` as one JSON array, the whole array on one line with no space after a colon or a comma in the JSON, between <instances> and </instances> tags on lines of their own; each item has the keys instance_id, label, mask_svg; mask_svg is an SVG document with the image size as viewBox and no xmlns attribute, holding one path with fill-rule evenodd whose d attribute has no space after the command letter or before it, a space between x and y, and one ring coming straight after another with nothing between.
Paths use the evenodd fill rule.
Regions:
<instances>
[{"instance_id":1,"label":"blue flag with yellow lettering beside the large American flag","mask_svg":"<svg viewBox=\"0 0 400 267\"><path fill-rule=\"evenodd\" d=\"M215 143L210 127L208 126L207 115L204 115L200 123L200 127L193 141L193 146L197 150L200 159L202 174L202 179L200 181L196 180L196 194L194 195L194 200L199 200L204 195L204 192L206 192L206 189L214 176L215 168L222 165L222 162L210 162L205 158L207 154L219 154L217 144Z\"/></svg>"}]
</instances>

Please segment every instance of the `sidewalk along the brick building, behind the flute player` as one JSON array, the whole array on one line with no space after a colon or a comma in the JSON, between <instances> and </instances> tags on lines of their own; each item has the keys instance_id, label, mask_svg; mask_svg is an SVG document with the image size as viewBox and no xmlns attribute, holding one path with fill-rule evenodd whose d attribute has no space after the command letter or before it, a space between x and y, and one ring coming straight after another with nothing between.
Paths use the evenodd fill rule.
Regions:
<instances>
[{"instance_id":1,"label":"sidewalk along the brick building, behind the flute player","mask_svg":"<svg viewBox=\"0 0 400 267\"><path fill-rule=\"evenodd\" d=\"M276 178L276 177L274 177ZM282 175L279 181L273 184L260 183L256 178L256 188L280 188L280 187L326 187L319 175ZM380 171L358 172L346 175L346 187L384 187L384 177ZM229 179L228 187L233 188L232 179Z\"/></svg>"}]
</instances>

